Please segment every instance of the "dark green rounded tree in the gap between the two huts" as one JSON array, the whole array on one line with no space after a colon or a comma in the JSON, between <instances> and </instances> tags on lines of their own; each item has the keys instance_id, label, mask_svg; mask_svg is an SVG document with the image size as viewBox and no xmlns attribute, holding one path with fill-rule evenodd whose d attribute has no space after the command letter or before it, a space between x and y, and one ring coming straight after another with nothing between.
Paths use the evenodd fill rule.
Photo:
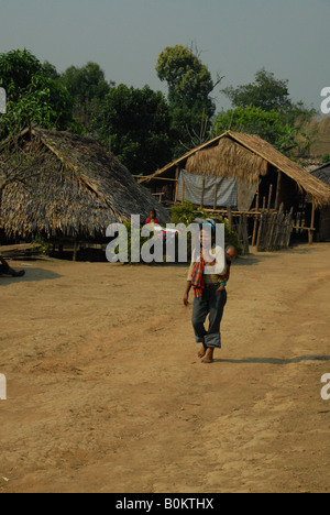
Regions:
<instances>
[{"instance_id":1,"label":"dark green rounded tree in the gap between the two huts","mask_svg":"<svg viewBox=\"0 0 330 515\"><path fill-rule=\"evenodd\" d=\"M169 114L162 92L119 85L97 117L101 143L133 173L147 175L170 158Z\"/></svg>"}]
</instances>

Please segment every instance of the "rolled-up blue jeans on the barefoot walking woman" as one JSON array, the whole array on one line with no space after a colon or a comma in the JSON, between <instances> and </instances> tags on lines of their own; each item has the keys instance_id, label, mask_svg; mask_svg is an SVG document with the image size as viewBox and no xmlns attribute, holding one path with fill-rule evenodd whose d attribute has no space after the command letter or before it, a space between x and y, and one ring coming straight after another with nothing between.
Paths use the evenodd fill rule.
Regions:
<instances>
[{"instance_id":1,"label":"rolled-up blue jeans on the barefoot walking woman","mask_svg":"<svg viewBox=\"0 0 330 515\"><path fill-rule=\"evenodd\" d=\"M206 285L201 297L194 299L193 327L196 343L221 349L220 325L227 303L227 292L218 292L219 284ZM209 315L209 329L205 328Z\"/></svg>"}]
</instances>

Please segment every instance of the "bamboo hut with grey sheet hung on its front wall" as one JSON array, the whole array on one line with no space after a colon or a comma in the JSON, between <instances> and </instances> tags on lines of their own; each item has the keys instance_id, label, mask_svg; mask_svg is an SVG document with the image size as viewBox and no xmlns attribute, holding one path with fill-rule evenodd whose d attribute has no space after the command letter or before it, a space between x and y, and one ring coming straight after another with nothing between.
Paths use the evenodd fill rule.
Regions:
<instances>
[{"instance_id":1,"label":"bamboo hut with grey sheet hung on its front wall","mask_svg":"<svg viewBox=\"0 0 330 515\"><path fill-rule=\"evenodd\" d=\"M140 184L163 195L169 205L190 200L220 215L230 205L230 216L248 218L253 245L265 212L290 212L292 227L299 233L307 231L311 242L316 210L330 205L329 185L260 136L232 131L187 152Z\"/></svg>"}]
</instances>

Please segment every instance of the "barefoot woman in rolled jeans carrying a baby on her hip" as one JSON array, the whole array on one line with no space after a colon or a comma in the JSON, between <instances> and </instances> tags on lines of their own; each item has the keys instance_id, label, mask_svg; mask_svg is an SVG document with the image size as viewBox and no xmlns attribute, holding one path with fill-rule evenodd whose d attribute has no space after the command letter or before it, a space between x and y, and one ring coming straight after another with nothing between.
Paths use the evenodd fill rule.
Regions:
<instances>
[{"instance_id":1,"label":"barefoot woman in rolled jeans carrying a baby on her hip","mask_svg":"<svg viewBox=\"0 0 330 515\"><path fill-rule=\"evenodd\" d=\"M231 263L237 258L237 249L230 245L226 249L215 246L216 228L212 233L201 229L200 258L193 262L187 277L187 287L184 295L184 305L188 306L189 292L194 288L193 327L195 340L202 347L198 357L202 363L212 363L215 349L221 349L220 325L223 309L227 304L227 282L229 281ZM221 256L224 254L224 259ZM212 266L212 273L208 273L207 266ZM206 330L205 322L209 316L209 328Z\"/></svg>"}]
</instances>

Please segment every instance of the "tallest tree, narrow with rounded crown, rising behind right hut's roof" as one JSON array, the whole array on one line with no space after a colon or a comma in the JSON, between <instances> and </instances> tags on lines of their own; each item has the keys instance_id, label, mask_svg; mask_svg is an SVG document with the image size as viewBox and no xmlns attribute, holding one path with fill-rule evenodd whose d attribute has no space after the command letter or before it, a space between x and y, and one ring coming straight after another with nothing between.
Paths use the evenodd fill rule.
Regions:
<instances>
[{"instance_id":1,"label":"tallest tree, narrow with rounded crown, rising behind right hut's roof","mask_svg":"<svg viewBox=\"0 0 330 515\"><path fill-rule=\"evenodd\" d=\"M157 76L168 85L168 107L172 118L175 154L191 147L191 134L199 134L206 120L209 125L216 111L210 97L215 83L200 58L186 46L166 47L158 56Z\"/></svg>"}]
</instances>

